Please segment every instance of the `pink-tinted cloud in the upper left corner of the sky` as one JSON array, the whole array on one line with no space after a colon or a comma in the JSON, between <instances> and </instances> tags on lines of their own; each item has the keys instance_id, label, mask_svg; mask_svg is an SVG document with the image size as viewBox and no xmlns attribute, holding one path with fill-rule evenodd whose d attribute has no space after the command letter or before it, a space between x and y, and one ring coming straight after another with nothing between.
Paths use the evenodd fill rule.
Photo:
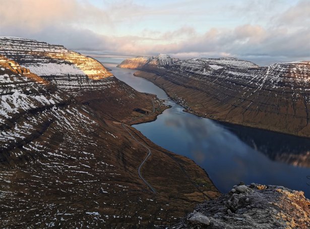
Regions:
<instances>
[{"instance_id":1,"label":"pink-tinted cloud in the upper left corner of the sky","mask_svg":"<svg viewBox=\"0 0 310 229\"><path fill-rule=\"evenodd\" d=\"M33 32L50 25L108 21L105 11L76 0L0 0L0 5L1 27L27 28Z\"/></svg>"}]
</instances>

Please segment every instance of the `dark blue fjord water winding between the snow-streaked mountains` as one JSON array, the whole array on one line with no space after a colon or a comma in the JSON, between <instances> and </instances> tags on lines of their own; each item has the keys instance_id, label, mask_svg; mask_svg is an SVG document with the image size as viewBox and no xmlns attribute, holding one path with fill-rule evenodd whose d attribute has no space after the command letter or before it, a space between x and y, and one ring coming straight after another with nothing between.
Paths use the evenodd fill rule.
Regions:
<instances>
[{"instance_id":1,"label":"dark blue fjord water winding between the snow-streaked mountains","mask_svg":"<svg viewBox=\"0 0 310 229\"><path fill-rule=\"evenodd\" d=\"M135 70L107 66L137 91L168 98L151 82L135 77ZM243 181L282 185L310 197L310 139L200 118L173 101L167 104L172 108L156 121L134 127L156 144L193 159L221 192Z\"/></svg>"}]
</instances>

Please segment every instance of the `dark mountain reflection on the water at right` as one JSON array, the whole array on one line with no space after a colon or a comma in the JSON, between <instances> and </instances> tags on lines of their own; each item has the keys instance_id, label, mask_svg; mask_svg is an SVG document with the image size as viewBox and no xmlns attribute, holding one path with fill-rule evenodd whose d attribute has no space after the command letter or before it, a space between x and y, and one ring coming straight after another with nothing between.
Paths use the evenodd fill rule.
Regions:
<instances>
[{"instance_id":1,"label":"dark mountain reflection on the water at right","mask_svg":"<svg viewBox=\"0 0 310 229\"><path fill-rule=\"evenodd\" d=\"M218 122L273 161L310 168L310 139Z\"/></svg>"}]
</instances>

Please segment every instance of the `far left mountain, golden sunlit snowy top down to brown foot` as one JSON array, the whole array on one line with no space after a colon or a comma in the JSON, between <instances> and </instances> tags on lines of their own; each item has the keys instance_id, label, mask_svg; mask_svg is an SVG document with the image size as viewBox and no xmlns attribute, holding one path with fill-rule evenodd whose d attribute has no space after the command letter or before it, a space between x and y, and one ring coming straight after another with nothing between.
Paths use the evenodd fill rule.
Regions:
<instances>
[{"instance_id":1,"label":"far left mountain, golden sunlit snowy top down to brown foot","mask_svg":"<svg viewBox=\"0 0 310 229\"><path fill-rule=\"evenodd\" d=\"M149 96L117 80L94 58L64 46L24 38L0 37L0 54L27 67L58 89L69 92L78 102L93 108L98 115L109 115L116 119L132 113L138 115L133 112L137 107L129 105L132 100L135 100L136 106L152 109Z\"/></svg>"}]
</instances>

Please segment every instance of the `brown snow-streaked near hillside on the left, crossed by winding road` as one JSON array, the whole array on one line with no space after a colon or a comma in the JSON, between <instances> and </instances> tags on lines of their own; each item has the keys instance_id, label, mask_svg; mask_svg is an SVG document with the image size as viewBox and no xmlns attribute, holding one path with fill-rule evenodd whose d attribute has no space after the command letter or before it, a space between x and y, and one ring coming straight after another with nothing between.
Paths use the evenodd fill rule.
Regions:
<instances>
[{"instance_id":1,"label":"brown snow-streaked near hillside on the left, crossed by winding road","mask_svg":"<svg viewBox=\"0 0 310 229\"><path fill-rule=\"evenodd\" d=\"M21 53L14 58L22 58ZM28 64L40 58L37 54ZM54 63L41 59L45 65ZM62 78L72 75L59 74L61 66L57 62L50 75L42 70L38 76L0 56L3 227L154 226L173 222L196 202L219 194L193 161L160 148L128 125L152 150L141 172L156 189L153 194L137 172L146 148L121 122L152 120L165 107L154 95L139 93L114 77L81 75L88 83L77 81L71 90ZM96 82L102 82L100 87L94 87Z\"/></svg>"}]
</instances>

